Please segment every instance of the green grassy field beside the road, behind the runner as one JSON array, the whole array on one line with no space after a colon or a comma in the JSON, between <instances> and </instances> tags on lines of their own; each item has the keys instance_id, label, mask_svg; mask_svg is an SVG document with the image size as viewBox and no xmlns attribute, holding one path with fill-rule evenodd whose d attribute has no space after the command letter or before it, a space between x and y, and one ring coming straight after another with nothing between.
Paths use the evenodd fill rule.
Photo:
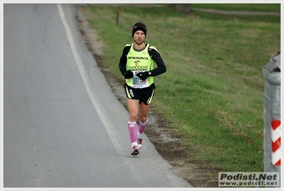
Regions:
<instances>
[{"instance_id":1,"label":"green grassy field beside the road, behind the runner","mask_svg":"<svg viewBox=\"0 0 284 191\"><path fill-rule=\"evenodd\" d=\"M280 11L280 4L192 4L194 8ZM189 157L226 171L263 171L263 77L280 51L280 16L238 16L162 7L88 6L104 42L106 67L121 77L119 58L133 23L148 28L167 72L155 77L153 104L190 146ZM254 162L255 163L254 163Z\"/></svg>"}]
</instances>

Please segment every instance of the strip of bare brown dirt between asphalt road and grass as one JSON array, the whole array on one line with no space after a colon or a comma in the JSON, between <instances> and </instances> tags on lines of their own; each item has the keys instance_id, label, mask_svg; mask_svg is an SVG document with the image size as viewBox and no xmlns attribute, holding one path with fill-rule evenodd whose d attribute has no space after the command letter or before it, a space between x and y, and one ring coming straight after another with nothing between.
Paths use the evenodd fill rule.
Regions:
<instances>
[{"instance_id":1,"label":"strip of bare brown dirt between asphalt road and grass","mask_svg":"<svg viewBox=\"0 0 284 191\"><path fill-rule=\"evenodd\" d=\"M77 6L77 21L82 33L82 37L90 53L97 60L97 65L104 73L114 94L121 104L126 107L126 96L124 93L124 80L116 79L111 72L104 67L102 56L102 45L97 38L96 31L92 30L87 23L88 16L84 12L84 5ZM145 133L160 155L173 165L175 173L185 178L194 187L218 187L218 172L222 170L200 165L190 153L194 148L182 146L182 138L173 132L170 121L167 121L163 114L159 113L155 104L152 104L149 111L149 121Z\"/></svg>"}]
</instances>

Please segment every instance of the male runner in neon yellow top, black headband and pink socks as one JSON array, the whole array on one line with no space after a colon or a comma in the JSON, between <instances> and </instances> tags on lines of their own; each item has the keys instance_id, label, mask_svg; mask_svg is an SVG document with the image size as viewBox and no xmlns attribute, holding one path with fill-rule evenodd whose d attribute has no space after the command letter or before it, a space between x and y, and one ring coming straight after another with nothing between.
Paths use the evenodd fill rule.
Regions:
<instances>
[{"instance_id":1,"label":"male runner in neon yellow top, black headband and pink socks","mask_svg":"<svg viewBox=\"0 0 284 191\"><path fill-rule=\"evenodd\" d=\"M138 155L142 147L143 133L148 125L148 111L155 93L154 77L166 72L165 63L158 50L146 43L147 28L144 23L135 23L132 28L133 43L124 47L119 70L124 75L128 129L131 139L131 155ZM154 68L154 63L157 67ZM136 121L139 117L139 126Z\"/></svg>"}]
</instances>

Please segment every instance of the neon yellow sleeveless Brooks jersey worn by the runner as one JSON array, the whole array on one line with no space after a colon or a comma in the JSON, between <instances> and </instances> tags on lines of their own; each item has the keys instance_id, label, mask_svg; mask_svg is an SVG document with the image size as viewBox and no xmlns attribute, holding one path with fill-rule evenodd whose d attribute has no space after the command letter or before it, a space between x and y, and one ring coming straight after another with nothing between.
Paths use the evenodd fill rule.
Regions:
<instances>
[{"instance_id":1,"label":"neon yellow sleeveless Brooks jersey worn by the runner","mask_svg":"<svg viewBox=\"0 0 284 191\"><path fill-rule=\"evenodd\" d=\"M133 88L144 88L149 87L154 82L154 77L147 77L146 80L141 80L136 77L139 72L150 71L154 69L154 60L148 53L149 44L146 44L146 48L141 51L134 50L134 43L131 44L129 53L126 55L126 70L131 70L133 72L133 77L131 79L126 79L126 84Z\"/></svg>"}]
</instances>

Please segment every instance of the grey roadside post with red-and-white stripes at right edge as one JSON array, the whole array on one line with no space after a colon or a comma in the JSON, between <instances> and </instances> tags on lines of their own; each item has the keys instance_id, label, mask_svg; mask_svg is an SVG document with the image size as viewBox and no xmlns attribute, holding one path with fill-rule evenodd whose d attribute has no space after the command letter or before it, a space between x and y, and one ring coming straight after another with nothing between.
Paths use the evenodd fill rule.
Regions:
<instances>
[{"instance_id":1,"label":"grey roadside post with red-and-white stripes at right edge","mask_svg":"<svg viewBox=\"0 0 284 191\"><path fill-rule=\"evenodd\" d=\"M264 172L280 172L281 119L280 119L280 53L273 55L263 67L263 164ZM280 173L281 175L281 173Z\"/></svg>"}]
</instances>

